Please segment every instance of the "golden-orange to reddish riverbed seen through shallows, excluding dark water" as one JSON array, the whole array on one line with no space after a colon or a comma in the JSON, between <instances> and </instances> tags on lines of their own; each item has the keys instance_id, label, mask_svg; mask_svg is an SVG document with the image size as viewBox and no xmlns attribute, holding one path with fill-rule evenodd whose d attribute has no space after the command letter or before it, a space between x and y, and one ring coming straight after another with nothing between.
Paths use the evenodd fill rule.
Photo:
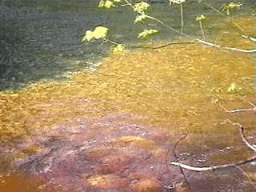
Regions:
<instances>
[{"instance_id":1,"label":"golden-orange to reddish riverbed seen through shallows, excluding dark water","mask_svg":"<svg viewBox=\"0 0 256 192\"><path fill-rule=\"evenodd\" d=\"M255 37L254 15L233 19ZM220 45L255 46L230 18L206 31L214 27ZM175 143L188 134L178 145L178 160L194 166L250 157L238 127L227 120L241 123L255 143L255 112L230 114L223 106L255 104L254 81L254 54L181 44L113 54L96 71L2 91L0 190L20 186L25 177L32 180L23 185L27 191L190 191L169 164L177 160ZM192 191L254 191L254 164L242 169L251 180L235 169L185 174Z\"/></svg>"}]
</instances>

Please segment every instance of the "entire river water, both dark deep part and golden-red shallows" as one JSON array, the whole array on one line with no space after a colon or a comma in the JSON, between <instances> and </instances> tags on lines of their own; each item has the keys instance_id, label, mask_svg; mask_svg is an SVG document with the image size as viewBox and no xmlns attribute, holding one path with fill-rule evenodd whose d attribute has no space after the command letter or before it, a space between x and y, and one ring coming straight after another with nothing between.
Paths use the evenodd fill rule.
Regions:
<instances>
[{"instance_id":1,"label":"entire river water, both dark deep part and golden-red shallows","mask_svg":"<svg viewBox=\"0 0 256 192\"><path fill-rule=\"evenodd\" d=\"M204 2L219 8L226 1ZM180 30L178 6L152 3L155 17ZM255 37L254 1L226 18L194 3L184 7L183 32L201 37L194 18L206 14L207 40L254 49L234 25ZM97 4L1 2L0 191L187 191L170 161L212 166L254 154L228 119L253 144L255 111L224 111L255 103L254 54L181 44L105 58L109 45L81 43L86 30L108 26L111 39L129 46L181 36L150 22L161 34L143 42L138 32L149 26L134 26L134 13ZM174 146L185 134L177 159ZM254 163L242 169L250 180L235 169L185 174L191 191L255 191Z\"/></svg>"}]
</instances>

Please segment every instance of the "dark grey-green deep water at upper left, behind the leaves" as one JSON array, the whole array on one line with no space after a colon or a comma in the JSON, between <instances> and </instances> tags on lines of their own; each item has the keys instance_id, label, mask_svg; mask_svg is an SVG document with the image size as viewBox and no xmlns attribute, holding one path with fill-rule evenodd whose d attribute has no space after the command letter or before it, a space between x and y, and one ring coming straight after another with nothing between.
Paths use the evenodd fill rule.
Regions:
<instances>
[{"instance_id":1,"label":"dark grey-green deep water at upper left, behind the leaves","mask_svg":"<svg viewBox=\"0 0 256 192\"><path fill-rule=\"evenodd\" d=\"M223 2L214 1L214 6L220 7ZM254 14L254 1L246 2L251 7L245 6L245 12ZM155 1L153 4L154 16L179 29L178 7L170 9L165 1ZM194 22L196 15L213 15L214 12L205 6L197 6L197 10L194 10L193 5L194 2L187 2L184 8L185 32L198 35L198 23ZM53 78L66 79L71 72L85 68L95 70L101 58L108 54L110 46L102 46L100 42L81 43L85 31L94 26L108 26L110 38L130 44L140 42L137 35L142 29L158 28L155 22L150 22L153 26L135 26L134 13L126 7L100 10L97 6L98 1L93 0L2 1L0 90L17 90L26 84ZM179 37L170 30L158 29L161 30L158 38Z\"/></svg>"}]
</instances>

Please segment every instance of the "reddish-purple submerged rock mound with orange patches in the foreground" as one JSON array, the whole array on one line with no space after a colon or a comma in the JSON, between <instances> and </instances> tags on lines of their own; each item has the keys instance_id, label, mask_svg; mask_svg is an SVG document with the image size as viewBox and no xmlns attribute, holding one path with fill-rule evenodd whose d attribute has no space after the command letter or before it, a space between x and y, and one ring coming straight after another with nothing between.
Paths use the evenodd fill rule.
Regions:
<instances>
[{"instance_id":1,"label":"reddish-purple submerged rock mound with orange patches in the foreground","mask_svg":"<svg viewBox=\"0 0 256 192\"><path fill-rule=\"evenodd\" d=\"M168 166L173 136L134 126L135 118L118 114L55 125L19 143L15 150L27 154L14 163L19 172L46 182L43 189L61 192L154 192L181 182L178 168Z\"/></svg>"}]
</instances>

